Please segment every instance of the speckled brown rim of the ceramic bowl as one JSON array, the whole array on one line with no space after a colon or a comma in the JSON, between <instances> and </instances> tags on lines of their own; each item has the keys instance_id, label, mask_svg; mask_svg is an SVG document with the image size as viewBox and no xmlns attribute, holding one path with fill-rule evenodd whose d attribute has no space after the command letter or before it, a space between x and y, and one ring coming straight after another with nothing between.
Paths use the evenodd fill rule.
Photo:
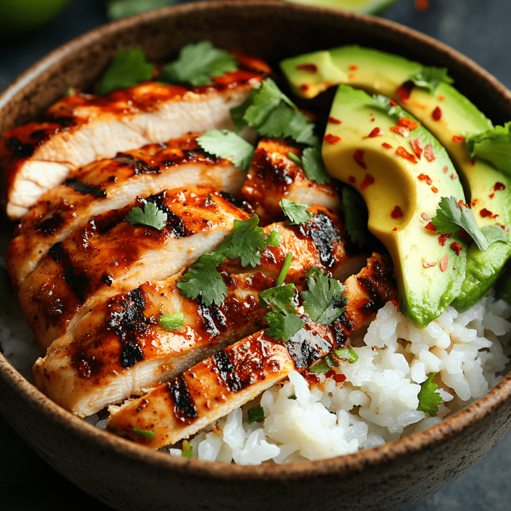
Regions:
<instances>
[{"instance_id":1,"label":"speckled brown rim of the ceramic bowl","mask_svg":"<svg viewBox=\"0 0 511 511\"><path fill-rule=\"evenodd\" d=\"M0 109L4 108L9 101L22 88L28 85L33 79L37 78L45 69L58 62L62 57L72 54L74 51L82 48L84 45L101 39L105 34L124 31L130 27L136 26L145 20L153 20L166 14L175 16L181 13L188 13L197 10L217 10L220 8L247 8L258 6L274 6L275 8L287 8L295 11L310 11L311 13L328 13L329 15L344 16L352 18L358 22L366 22L380 27L382 30L394 33L406 34L407 37L418 40L425 45L435 48L435 50L445 54L456 61L461 67L468 67L471 71L481 76L487 83L497 91L502 101L511 103L511 92L507 90L492 75L484 71L469 58L463 56L456 50L447 45L432 39L424 34L412 29L394 23L392 21L375 18L373 16L341 13L339 11L330 11L329 9L315 8L304 5L282 4L275 0L213 0L209 2L197 2L194 4L182 4L174 7L163 8L158 11L139 14L130 18L114 21L92 30L51 52L48 56L42 58L25 73L17 78L1 95ZM383 446L365 449L354 454L347 454L335 458L303 461L289 463L285 465L262 464L260 466L244 466L234 463L208 462L198 459L186 459L170 456L167 453L150 451L143 446L139 446L124 438L102 431L92 426L77 416L61 408L49 398L45 397L28 380L22 377L18 371L0 354L0 378L19 393L19 397L25 400L31 406L34 406L48 419L61 427L64 431L73 435L85 435L88 440L98 444L98 447L104 450L113 451L121 454L132 461L138 463L147 463L159 468L166 468L172 471L179 471L187 474L209 476L219 480L223 479L298 479L308 476L320 476L325 473L346 473L359 471L368 465L376 465L384 461L390 461L411 452L419 451L426 446L440 442L443 439L452 437L462 430L476 423L482 417L492 412L492 410L502 405L511 395L511 374L505 376L500 383L490 390L485 396L478 399L469 407L457 412L451 417L443 420L441 423L432 426L419 433L393 440Z\"/></svg>"}]
</instances>

